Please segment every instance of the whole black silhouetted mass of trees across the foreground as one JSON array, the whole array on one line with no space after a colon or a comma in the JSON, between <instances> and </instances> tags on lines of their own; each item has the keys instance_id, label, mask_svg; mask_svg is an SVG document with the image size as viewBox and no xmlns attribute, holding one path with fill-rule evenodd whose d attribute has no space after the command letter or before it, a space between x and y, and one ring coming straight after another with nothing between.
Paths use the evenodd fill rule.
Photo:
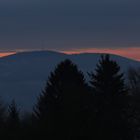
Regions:
<instances>
[{"instance_id":1,"label":"whole black silhouetted mass of trees across the foreground","mask_svg":"<svg viewBox=\"0 0 140 140\"><path fill-rule=\"evenodd\" d=\"M0 138L12 140L135 140L140 137L140 71L125 84L119 65L102 55L90 81L70 60L50 73L30 114L0 101ZM128 86L129 85L129 86ZM22 89L21 89L22 90Z\"/></svg>"}]
</instances>

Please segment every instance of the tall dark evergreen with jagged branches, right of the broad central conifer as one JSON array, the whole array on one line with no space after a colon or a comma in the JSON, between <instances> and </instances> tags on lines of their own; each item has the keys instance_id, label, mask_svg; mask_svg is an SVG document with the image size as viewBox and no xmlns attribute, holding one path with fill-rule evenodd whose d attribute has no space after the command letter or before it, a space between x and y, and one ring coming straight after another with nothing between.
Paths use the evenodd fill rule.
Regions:
<instances>
[{"instance_id":1,"label":"tall dark evergreen with jagged branches, right of the broad central conifer","mask_svg":"<svg viewBox=\"0 0 140 140\"><path fill-rule=\"evenodd\" d=\"M127 91L119 65L109 55L102 55L90 78L98 139L132 139L126 115Z\"/></svg>"}]
</instances>

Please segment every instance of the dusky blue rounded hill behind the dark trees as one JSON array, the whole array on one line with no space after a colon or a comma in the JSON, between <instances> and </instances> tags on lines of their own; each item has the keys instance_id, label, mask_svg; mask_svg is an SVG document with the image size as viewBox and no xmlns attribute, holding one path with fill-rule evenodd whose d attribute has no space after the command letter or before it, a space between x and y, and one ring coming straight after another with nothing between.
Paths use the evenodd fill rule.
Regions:
<instances>
[{"instance_id":1,"label":"dusky blue rounded hill behind the dark trees","mask_svg":"<svg viewBox=\"0 0 140 140\"><path fill-rule=\"evenodd\" d=\"M64 59L79 66L88 79L87 72L94 70L100 54L83 53L66 55L53 51L23 52L0 58L0 96L6 102L15 99L21 109L30 110L47 80L50 71ZM111 55L126 72L129 67L140 67L140 62Z\"/></svg>"}]
</instances>

